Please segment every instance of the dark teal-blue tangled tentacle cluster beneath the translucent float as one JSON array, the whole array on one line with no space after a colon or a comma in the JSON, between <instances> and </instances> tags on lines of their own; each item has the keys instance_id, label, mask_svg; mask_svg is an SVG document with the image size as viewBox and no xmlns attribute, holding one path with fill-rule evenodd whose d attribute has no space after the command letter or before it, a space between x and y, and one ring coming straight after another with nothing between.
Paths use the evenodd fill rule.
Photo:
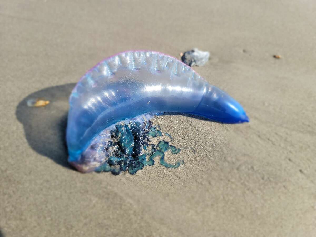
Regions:
<instances>
[{"instance_id":1,"label":"dark teal-blue tangled tentacle cluster beneath the translucent float","mask_svg":"<svg viewBox=\"0 0 316 237\"><path fill-rule=\"evenodd\" d=\"M163 137L158 128L160 129L159 125L153 126L150 120L143 123L130 122L116 125L111 131L111 140L105 147L109 158L95 171L113 174L128 171L135 174L144 166L154 165L155 157L160 157L160 164L167 168L178 168L183 165L183 160L176 161L174 165L164 160L165 152L170 150L171 153L178 154L179 148L170 145L165 140L159 141L157 145L151 142L153 137ZM171 136L168 134L168 137ZM96 144L92 146L95 147Z\"/></svg>"}]
</instances>

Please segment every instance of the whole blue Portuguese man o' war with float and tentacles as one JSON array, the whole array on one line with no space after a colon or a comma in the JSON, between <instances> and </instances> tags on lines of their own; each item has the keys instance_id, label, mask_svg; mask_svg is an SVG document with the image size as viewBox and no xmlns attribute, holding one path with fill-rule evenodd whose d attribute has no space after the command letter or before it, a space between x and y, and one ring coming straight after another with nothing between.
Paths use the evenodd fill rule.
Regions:
<instances>
[{"instance_id":1,"label":"whole blue Portuguese man o' war with float and tentacles","mask_svg":"<svg viewBox=\"0 0 316 237\"><path fill-rule=\"evenodd\" d=\"M163 112L189 113L222 123L248 122L227 93L176 58L155 51L126 51L106 58L76 84L69 99L68 161L81 172L136 173L164 151L177 148L150 119ZM160 145L159 145L160 144Z\"/></svg>"}]
</instances>

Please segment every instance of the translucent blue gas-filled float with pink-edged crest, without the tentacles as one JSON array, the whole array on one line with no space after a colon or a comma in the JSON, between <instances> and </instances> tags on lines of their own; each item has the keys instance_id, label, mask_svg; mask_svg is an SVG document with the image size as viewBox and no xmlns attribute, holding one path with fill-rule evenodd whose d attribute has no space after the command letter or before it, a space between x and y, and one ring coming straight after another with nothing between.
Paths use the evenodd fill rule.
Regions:
<instances>
[{"instance_id":1,"label":"translucent blue gas-filled float with pink-edged crest, without the tentacles","mask_svg":"<svg viewBox=\"0 0 316 237\"><path fill-rule=\"evenodd\" d=\"M223 123L248 122L237 101L178 59L153 51L122 52L92 68L70 95L70 163L82 172L93 170L105 158L93 159L93 151L82 154L101 132L119 121L157 112L191 113Z\"/></svg>"}]
</instances>

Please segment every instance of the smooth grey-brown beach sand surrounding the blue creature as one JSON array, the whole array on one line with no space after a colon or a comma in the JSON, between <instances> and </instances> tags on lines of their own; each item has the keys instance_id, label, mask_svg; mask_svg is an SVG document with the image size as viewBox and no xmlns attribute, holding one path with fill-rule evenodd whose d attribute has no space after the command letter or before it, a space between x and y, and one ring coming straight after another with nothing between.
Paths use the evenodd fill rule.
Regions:
<instances>
[{"instance_id":1,"label":"smooth grey-brown beach sand surrounding the blue creature","mask_svg":"<svg viewBox=\"0 0 316 237\"><path fill-rule=\"evenodd\" d=\"M315 2L150 2L0 4L0 236L315 236ZM250 123L161 116L182 148L166 160L184 166L69 167L67 98L89 68L193 47L211 53L194 69ZM34 97L51 103L27 107Z\"/></svg>"}]
</instances>

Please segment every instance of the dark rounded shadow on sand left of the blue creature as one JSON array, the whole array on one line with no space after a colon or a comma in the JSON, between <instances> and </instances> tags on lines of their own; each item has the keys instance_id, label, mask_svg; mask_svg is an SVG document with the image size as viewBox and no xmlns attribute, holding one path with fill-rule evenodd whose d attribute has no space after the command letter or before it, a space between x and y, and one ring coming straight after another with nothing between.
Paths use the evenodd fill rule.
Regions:
<instances>
[{"instance_id":1,"label":"dark rounded shadow on sand left of the blue creature","mask_svg":"<svg viewBox=\"0 0 316 237\"><path fill-rule=\"evenodd\" d=\"M67 162L65 141L68 99L75 85L71 83L54 86L29 94L18 104L15 111L32 149L67 168L71 168ZM27 100L37 98L49 100L50 104L45 107L27 106Z\"/></svg>"}]
</instances>

